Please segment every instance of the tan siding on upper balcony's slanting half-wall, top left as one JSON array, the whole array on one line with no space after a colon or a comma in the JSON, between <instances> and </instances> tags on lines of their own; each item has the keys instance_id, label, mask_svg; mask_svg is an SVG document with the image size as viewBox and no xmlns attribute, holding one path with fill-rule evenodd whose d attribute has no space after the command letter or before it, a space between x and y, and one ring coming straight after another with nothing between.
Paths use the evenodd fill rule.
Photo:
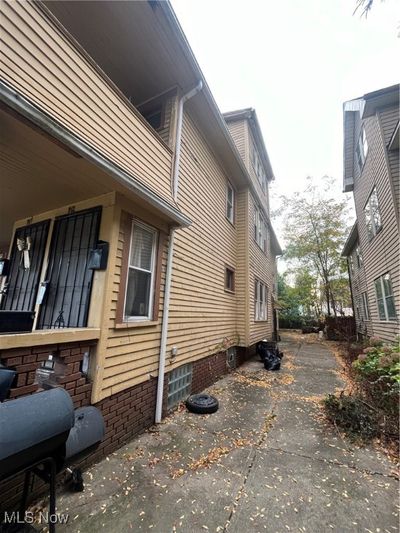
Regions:
<instances>
[{"instance_id":1,"label":"tan siding on upper balcony's slanting half-wall, top left","mask_svg":"<svg viewBox=\"0 0 400 533\"><path fill-rule=\"evenodd\" d=\"M1 3L3 78L134 178L171 200L172 155L129 102L32 2Z\"/></svg>"}]
</instances>

